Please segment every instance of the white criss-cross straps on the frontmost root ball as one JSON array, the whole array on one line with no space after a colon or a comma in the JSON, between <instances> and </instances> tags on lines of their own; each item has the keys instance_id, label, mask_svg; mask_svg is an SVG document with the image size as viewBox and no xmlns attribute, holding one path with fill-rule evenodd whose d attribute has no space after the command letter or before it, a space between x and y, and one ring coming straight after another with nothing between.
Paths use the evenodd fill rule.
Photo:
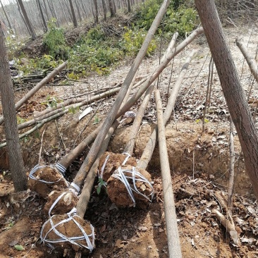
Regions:
<instances>
[{"instance_id":1,"label":"white criss-cross straps on the frontmost root ball","mask_svg":"<svg viewBox=\"0 0 258 258\"><path fill-rule=\"evenodd\" d=\"M56 215L54 215L56 216ZM90 252L92 252L92 250L94 249L94 227L92 226L92 224L90 224L90 228L92 230L92 233L90 235L87 235L87 233L85 232L85 230L82 228L82 226L80 225L80 223L78 223L78 221L75 220L75 217L79 217L78 215L76 215L76 209L73 208L68 214L68 218L67 219L63 219L62 221L59 221L59 223L56 223L56 225L54 225L52 219L54 218L54 216L51 216L51 218L49 218L44 225L42 226L42 230L40 233L40 238L42 240L43 243L57 243L57 242L70 242L70 244L72 245L78 245L80 247L84 247L87 248L88 250L90 250ZM80 228L80 231L82 233L82 235L80 236L74 236L71 238L68 238L66 235L63 235L61 232L59 232L56 227L58 227L61 224L64 223L68 223L69 221L72 221L76 224L76 226L78 226L78 228ZM43 231L44 231L44 227L47 225L47 223L51 223L51 228L49 229L49 231L47 231L46 235L43 237ZM54 233L56 233L56 235L59 236L59 239L48 239L47 235L51 232L54 231ZM92 238L92 241L90 240L90 238ZM81 240L85 240L85 242L87 243L87 245L82 245L80 244L78 241Z\"/></svg>"}]
</instances>

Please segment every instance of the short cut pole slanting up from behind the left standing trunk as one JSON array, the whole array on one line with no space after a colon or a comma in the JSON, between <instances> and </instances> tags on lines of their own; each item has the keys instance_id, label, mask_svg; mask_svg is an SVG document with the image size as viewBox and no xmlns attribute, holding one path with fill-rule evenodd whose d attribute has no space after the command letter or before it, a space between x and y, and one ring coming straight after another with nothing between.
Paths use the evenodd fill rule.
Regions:
<instances>
[{"instance_id":1,"label":"short cut pole slanting up from behind the left standing trunk","mask_svg":"<svg viewBox=\"0 0 258 258\"><path fill-rule=\"evenodd\" d=\"M23 104L27 102L27 100L30 99L30 97L32 97L38 90L40 90L57 73L60 73L60 71L63 70L63 68L66 68L66 66L67 62L62 63L59 67L55 68L51 73L49 73L41 82L37 83L37 85L32 90L30 90L30 92L27 92L27 94L16 103L16 110L20 109L20 106L23 106ZM4 123L3 116L0 117L0 125L2 123Z\"/></svg>"}]
</instances>

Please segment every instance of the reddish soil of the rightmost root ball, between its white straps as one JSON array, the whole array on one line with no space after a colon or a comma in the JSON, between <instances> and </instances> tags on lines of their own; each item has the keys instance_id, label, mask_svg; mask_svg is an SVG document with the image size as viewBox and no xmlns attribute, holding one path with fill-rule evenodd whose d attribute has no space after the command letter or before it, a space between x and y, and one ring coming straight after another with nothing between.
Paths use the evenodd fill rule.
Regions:
<instances>
[{"instance_id":1,"label":"reddish soil of the rightmost root ball, between its white straps","mask_svg":"<svg viewBox=\"0 0 258 258\"><path fill-rule=\"evenodd\" d=\"M133 166L123 166L122 168L132 170ZM152 177L147 171L145 171L145 169L136 168L136 171L140 172L142 176L144 176L152 185ZM127 173L127 172L123 172L123 173L125 176L132 176L131 173ZM138 176L135 176L135 178L137 179ZM130 184L130 187L134 189L133 180L128 179L128 183ZM137 190L141 192L143 195L147 196L149 199L147 199L146 197L140 195L135 191L132 191L133 197L135 199L135 203L134 203L133 199L130 197L128 193L127 188L125 187L125 184L121 182L121 180L119 180L118 178L114 178L113 176L111 176L107 181L106 188L107 188L107 193L109 195L109 199L111 199L111 202L116 204L117 207L133 207L136 205L138 207L145 208L147 204L150 202L150 200L152 200L153 188L148 183L144 183L137 180L135 185L137 187Z\"/></svg>"}]
</instances>

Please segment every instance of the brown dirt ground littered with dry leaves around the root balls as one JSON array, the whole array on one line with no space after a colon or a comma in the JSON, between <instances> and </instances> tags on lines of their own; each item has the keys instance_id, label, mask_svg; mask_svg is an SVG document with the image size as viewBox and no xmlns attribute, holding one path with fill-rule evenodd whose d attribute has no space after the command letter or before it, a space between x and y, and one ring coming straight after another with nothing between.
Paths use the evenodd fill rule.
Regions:
<instances>
[{"instance_id":1,"label":"brown dirt ground littered with dry leaves around the root balls","mask_svg":"<svg viewBox=\"0 0 258 258\"><path fill-rule=\"evenodd\" d=\"M245 45L254 56L257 46L257 28L250 25L241 28L226 28L226 37L231 47L233 58L241 75L245 92L250 89L250 70L243 62L239 49L235 46L235 38L241 35ZM241 34L240 34L241 32ZM176 81L185 58L192 49L197 55L190 68L178 95L175 112L166 125L166 141L168 158L171 166L173 192L176 202L176 214L180 242L184 258L196 257L258 257L258 204L252 193L250 180L245 173L245 166L238 137L234 132L237 161L235 171L238 172L233 197L233 221L238 233L238 244L235 244L221 221L214 216L212 210L218 209L226 214L223 198L227 198L228 190L228 109L219 85L219 78L214 72L211 104L207 112L205 132L202 133L200 119L203 116L207 78L209 75L210 53L204 36L199 37L185 51L176 56L171 66L160 76L161 95L164 107L169 89ZM152 72L159 59L145 59L139 70L137 81ZM124 63L108 76L94 75L84 82L71 82L70 87L44 87L18 112L21 118L31 118L32 112L41 111L47 95L64 99L81 94L85 89L99 89L113 86L123 80L130 65ZM169 85L171 80L171 86ZM16 92L20 99L25 92ZM257 100L257 84L250 91L250 108L257 122L253 105ZM42 100L43 99L43 100ZM41 158L47 164L55 164L73 149L98 125L94 122L104 120L115 97L96 102L92 108L97 111L89 122L90 115L78 119L80 112L67 113L65 116L51 121L39 130L40 137L30 135L22 141L23 156L27 173ZM140 103L140 102L139 102ZM139 104L138 103L138 104ZM137 111L137 105L131 110ZM83 107L83 109L85 109ZM97 119L96 119L97 116ZM154 97L145 111L140 132L135 142L135 157L140 159L143 149L154 130L156 113ZM87 124L87 128L85 125ZM109 151L123 152L128 139L131 123L121 123L109 144ZM4 130L1 129L1 140ZM44 131L44 134L43 134ZM90 147L89 147L90 148ZM72 181L87 155L88 149L73 161L66 173L68 181ZM40 151L41 149L41 151ZM40 240L42 224L48 217L44 212L45 199L36 192L28 190L13 194L11 176L8 173L8 155L6 149L0 149L0 257L74 257L70 250L60 250L43 245ZM147 171L154 182L154 199L145 209L139 207L119 208L112 204L104 189L97 193L95 180L90 203L84 219L90 221L95 229L95 248L90 254L82 257L168 257L166 239L166 221L164 218L164 201L161 183L159 149L156 147ZM222 196L222 199L219 198ZM25 250L16 250L22 245Z\"/></svg>"}]
</instances>

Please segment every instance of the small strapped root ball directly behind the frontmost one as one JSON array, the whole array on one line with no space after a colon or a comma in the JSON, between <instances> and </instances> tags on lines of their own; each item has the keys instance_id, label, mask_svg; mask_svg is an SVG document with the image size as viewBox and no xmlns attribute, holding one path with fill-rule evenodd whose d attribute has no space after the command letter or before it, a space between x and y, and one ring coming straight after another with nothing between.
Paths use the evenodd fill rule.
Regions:
<instances>
[{"instance_id":1,"label":"small strapped root ball directly behind the frontmost one","mask_svg":"<svg viewBox=\"0 0 258 258\"><path fill-rule=\"evenodd\" d=\"M76 207L78 195L73 191L62 192L54 190L49 193L47 203L44 206L44 213L51 215L66 214Z\"/></svg>"}]
</instances>

